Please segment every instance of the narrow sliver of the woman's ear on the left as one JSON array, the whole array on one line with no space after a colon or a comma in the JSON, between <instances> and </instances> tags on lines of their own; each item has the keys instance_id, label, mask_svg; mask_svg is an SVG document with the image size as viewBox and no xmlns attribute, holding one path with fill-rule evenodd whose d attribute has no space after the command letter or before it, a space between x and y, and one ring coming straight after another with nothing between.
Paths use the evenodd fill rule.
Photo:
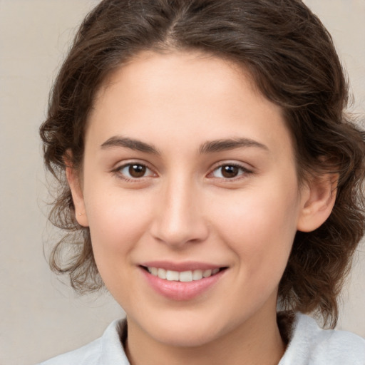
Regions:
<instances>
[{"instance_id":1,"label":"narrow sliver of the woman's ear on the left","mask_svg":"<svg viewBox=\"0 0 365 365\"><path fill-rule=\"evenodd\" d=\"M75 206L76 220L79 225L88 227L88 217L86 215L80 176L78 171L74 169L70 163L68 163L68 160L66 160L66 178L71 189L73 205Z\"/></svg>"}]
</instances>

